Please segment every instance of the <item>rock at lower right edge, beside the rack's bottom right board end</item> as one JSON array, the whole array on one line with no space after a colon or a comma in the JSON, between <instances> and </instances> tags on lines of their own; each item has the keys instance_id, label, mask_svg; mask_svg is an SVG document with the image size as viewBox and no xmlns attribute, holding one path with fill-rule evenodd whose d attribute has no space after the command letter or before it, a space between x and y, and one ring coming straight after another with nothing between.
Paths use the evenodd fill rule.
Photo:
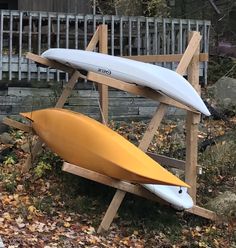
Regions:
<instances>
[{"instance_id":1,"label":"rock at lower right edge, beside the rack's bottom right board end","mask_svg":"<svg viewBox=\"0 0 236 248\"><path fill-rule=\"evenodd\" d=\"M226 191L207 203L207 207L218 215L236 216L236 194Z\"/></svg>"}]
</instances>

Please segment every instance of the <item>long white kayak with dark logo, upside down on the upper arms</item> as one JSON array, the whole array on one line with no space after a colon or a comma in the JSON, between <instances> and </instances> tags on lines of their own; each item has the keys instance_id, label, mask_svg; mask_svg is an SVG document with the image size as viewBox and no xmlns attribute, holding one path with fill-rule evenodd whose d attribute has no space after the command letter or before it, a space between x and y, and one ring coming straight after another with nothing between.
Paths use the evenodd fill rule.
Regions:
<instances>
[{"instance_id":1,"label":"long white kayak with dark logo, upside down on the upper arms","mask_svg":"<svg viewBox=\"0 0 236 248\"><path fill-rule=\"evenodd\" d=\"M150 87L201 113L210 112L191 84L178 73L152 64L77 49L52 48L43 57L122 80Z\"/></svg>"}]
</instances>

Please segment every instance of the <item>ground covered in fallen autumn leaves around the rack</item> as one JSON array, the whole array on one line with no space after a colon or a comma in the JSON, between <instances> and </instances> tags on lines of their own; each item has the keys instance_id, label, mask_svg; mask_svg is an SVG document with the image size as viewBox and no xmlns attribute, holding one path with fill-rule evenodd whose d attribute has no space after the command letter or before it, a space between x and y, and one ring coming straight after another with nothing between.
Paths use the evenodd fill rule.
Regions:
<instances>
[{"instance_id":1,"label":"ground covered in fallen autumn leaves around the rack","mask_svg":"<svg viewBox=\"0 0 236 248\"><path fill-rule=\"evenodd\" d=\"M203 206L225 190L236 193L236 144L223 138L235 131L235 124L231 118L230 124L205 120L200 126L198 202ZM145 122L110 126L135 144L147 127ZM183 121L167 121L150 151L184 159L184 137ZM131 195L110 230L98 235L114 190L61 172L61 160L46 148L34 167L22 173L32 140L10 130L9 144L0 147L0 237L5 247L236 247L235 212L213 223ZM204 145L206 140L214 142Z\"/></svg>"}]
</instances>

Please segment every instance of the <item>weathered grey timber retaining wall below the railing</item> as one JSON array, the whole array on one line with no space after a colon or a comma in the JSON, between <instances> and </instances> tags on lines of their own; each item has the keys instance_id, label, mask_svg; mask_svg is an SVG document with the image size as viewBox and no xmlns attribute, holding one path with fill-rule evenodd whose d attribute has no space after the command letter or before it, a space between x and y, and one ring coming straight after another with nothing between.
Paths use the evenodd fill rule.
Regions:
<instances>
[{"instance_id":1,"label":"weathered grey timber retaining wall below the railing","mask_svg":"<svg viewBox=\"0 0 236 248\"><path fill-rule=\"evenodd\" d=\"M81 88L81 89L80 89ZM73 91L65 104L66 109L81 112L98 119L100 116L98 91L94 87L82 87ZM0 91L0 119L4 116L19 118L20 112L53 107L62 89L8 87ZM158 103L127 92L109 90L110 120L149 119ZM184 111L170 108L168 115L181 116Z\"/></svg>"}]
</instances>

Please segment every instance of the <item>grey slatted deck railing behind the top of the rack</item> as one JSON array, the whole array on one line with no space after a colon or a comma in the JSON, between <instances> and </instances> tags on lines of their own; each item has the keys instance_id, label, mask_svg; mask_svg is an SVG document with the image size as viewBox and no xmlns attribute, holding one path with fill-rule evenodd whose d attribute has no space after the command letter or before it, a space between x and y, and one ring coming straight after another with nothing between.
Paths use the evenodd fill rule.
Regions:
<instances>
[{"instance_id":1,"label":"grey slatted deck railing behind the top of the rack","mask_svg":"<svg viewBox=\"0 0 236 248\"><path fill-rule=\"evenodd\" d=\"M101 23L108 25L109 54L115 56L182 53L191 30L202 34L201 52L208 52L209 21L1 10L0 80L67 80L63 72L32 64L25 53L41 54L53 47L85 49ZM176 64L162 66L174 69ZM200 74L206 82L206 62Z\"/></svg>"}]
</instances>

